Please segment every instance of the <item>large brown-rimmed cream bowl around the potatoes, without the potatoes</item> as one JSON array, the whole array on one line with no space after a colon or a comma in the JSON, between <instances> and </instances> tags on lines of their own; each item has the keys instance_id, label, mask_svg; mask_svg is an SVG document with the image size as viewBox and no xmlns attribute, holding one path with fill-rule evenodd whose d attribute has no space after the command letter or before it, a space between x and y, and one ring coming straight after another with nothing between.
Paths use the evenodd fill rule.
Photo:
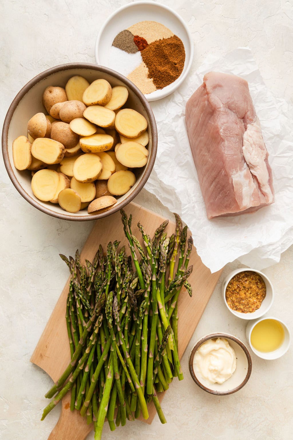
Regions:
<instances>
[{"instance_id":1,"label":"large brown-rimmed cream bowl around the potatoes, without the potatoes","mask_svg":"<svg viewBox=\"0 0 293 440\"><path fill-rule=\"evenodd\" d=\"M143 114L148 121L148 162L144 167L134 171L136 183L130 191L123 196L117 197L117 203L103 213L88 214L87 210L84 209L72 214L64 211L58 204L38 200L31 190L31 172L28 170L18 171L13 164L12 143L14 139L21 135L27 135L27 122L34 114L38 112L47 113L42 105L43 91L45 88L49 85L65 87L69 78L74 75L81 75L89 82L98 78L104 78L109 81L113 87L116 85L126 86L129 93L127 106ZM35 208L62 220L97 220L116 213L116 211L127 205L141 191L151 174L156 159L157 143L156 120L145 95L120 73L108 69L107 67L88 63L61 64L60 66L45 70L29 81L12 101L5 117L2 132L4 163L14 187L22 197Z\"/></svg>"}]
</instances>

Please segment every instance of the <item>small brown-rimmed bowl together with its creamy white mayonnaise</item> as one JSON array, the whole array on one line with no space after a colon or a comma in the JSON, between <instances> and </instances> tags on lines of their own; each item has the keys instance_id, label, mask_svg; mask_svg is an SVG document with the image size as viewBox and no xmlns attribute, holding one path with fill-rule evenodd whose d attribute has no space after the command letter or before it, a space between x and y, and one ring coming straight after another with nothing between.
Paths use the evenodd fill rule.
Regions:
<instances>
[{"instance_id":1,"label":"small brown-rimmed bowl together with its creamy white mayonnaise","mask_svg":"<svg viewBox=\"0 0 293 440\"><path fill-rule=\"evenodd\" d=\"M241 389L251 374L248 349L237 337L213 333L201 337L189 356L189 371L195 383L217 396Z\"/></svg>"}]
</instances>

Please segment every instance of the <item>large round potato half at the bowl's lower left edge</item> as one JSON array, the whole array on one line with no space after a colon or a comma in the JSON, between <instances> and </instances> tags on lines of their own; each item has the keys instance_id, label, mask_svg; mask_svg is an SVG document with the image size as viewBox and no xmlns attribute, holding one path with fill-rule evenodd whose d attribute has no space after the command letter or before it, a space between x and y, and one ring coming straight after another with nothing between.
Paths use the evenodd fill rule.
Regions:
<instances>
[{"instance_id":1,"label":"large round potato half at the bowl's lower left edge","mask_svg":"<svg viewBox=\"0 0 293 440\"><path fill-rule=\"evenodd\" d=\"M59 174L52 169L40 169L32 178L32 191L39 200L49 202L54 198L59 183Z\"/></svg>"}]
</instances>

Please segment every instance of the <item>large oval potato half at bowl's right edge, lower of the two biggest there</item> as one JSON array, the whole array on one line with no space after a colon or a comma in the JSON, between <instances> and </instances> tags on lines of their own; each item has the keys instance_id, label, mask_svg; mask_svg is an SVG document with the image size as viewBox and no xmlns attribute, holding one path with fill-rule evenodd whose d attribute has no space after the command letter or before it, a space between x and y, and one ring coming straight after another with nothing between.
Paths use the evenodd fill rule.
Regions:
<instances>
[{"instance_id":1,"label":"large oval potato half at bowl's right edge, lower of the two biggest there","mask_svg":"<svg viewBox=\"0 0 293 440\"><path fill-rule=\"evenodd\" d=\"M148 161L148 150L138 142L129 141L117 148L116 158L129 168L140 168Z\"/></svg>"}]
</instances>

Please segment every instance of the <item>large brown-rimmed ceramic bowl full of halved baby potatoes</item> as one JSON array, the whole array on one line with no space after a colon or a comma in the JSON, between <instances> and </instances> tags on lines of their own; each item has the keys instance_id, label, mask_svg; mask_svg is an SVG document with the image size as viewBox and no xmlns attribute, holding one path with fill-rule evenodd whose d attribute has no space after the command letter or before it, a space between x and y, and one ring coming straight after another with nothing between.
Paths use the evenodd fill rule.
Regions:
<instances>
[{"instance_id":1,"label":"large brown-rimmed ceramic bowl full of halved baby potatoes","mask_svg":"<svg viewBox=\"0 0 293 440\"><path fill-rule=\"evenodd\" d=\"M151 107L106 67L70 63L40 73L14 98L2 133L18 192L40 211L95 220L127 205L156 158Z\"/></svg>"}]
</instances>

